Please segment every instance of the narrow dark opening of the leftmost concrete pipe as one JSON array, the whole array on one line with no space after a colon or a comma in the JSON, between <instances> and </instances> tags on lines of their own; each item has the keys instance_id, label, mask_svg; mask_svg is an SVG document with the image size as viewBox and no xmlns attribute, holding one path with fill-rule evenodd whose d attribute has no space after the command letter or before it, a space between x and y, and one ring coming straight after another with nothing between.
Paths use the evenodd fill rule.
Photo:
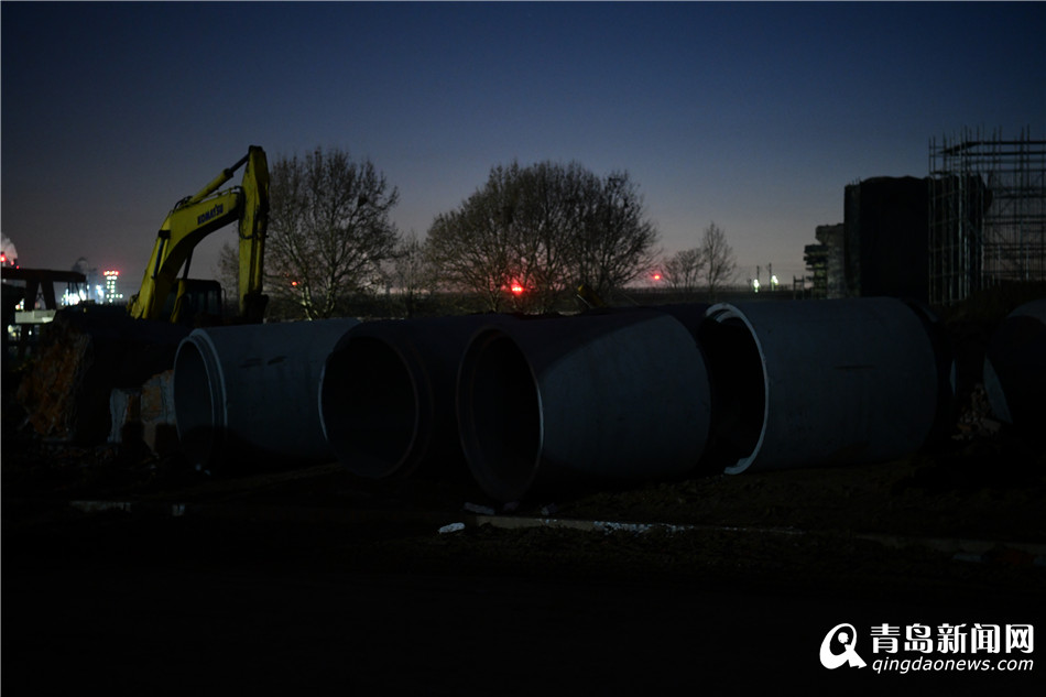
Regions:
<instances>
[{"instance_id":1,"label":"narrow dark opening of the leftmost concrete pipe","mask_svg":"<svg viewBox=\"0 0 1046 697\"><path fill-rule=\"evenodd\" d=\"M175 356L174 401L177 413L178 439L189 462L210 462L221 447L225 420L220 392L216 385L217 364L210 353L200 350L193 340L183 341Z\"/></svg>"}]
</instances>

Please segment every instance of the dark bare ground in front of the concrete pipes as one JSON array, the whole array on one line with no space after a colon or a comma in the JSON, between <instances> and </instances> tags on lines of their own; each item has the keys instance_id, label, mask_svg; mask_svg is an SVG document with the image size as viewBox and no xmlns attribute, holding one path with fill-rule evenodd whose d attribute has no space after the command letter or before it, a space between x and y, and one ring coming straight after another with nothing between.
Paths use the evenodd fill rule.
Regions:
<instances>
[{"instance_id":1,"label":"dark bare ground in front of the concrete pipes","mask_svg":"<svg viewBox=\"0 0 1046 697\"><path fill-rule=\"evenodd\" d=\"M927 654L990 669L875 669L923 655L873 651L883 624L902 640L944 623L1032 624L1046 639L1046 460L1004 431L897 462L702 476L503 511L467 480L373 482L338 465L208 476L177 458L48 446L10 425L4 695L1044 684L1038 646ZM454 523L464 527L440 532ZM820 664L841 623L867 667ZM1013 658L1042 665L1000 669Z\"/></svg>"}]
</instances>

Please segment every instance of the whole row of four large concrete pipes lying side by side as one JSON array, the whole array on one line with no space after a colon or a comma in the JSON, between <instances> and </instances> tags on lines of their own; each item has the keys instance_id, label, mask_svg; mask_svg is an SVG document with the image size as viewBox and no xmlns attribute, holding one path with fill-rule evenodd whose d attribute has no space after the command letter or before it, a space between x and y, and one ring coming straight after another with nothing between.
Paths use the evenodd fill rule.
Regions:
<instances>
[{"instance_id":1,"label":"whole row of four large concrete pipes lying side by side","mask_svg":"<svg viewBox=\"0 0 1046 697\"><path fill-rule=\"evenodd\" d=\"M933 318L892 298L339 322L185 339L175 406L190 459L466 472L510 502L900 458L951 396Z\"/></svg>"}]
</instances>

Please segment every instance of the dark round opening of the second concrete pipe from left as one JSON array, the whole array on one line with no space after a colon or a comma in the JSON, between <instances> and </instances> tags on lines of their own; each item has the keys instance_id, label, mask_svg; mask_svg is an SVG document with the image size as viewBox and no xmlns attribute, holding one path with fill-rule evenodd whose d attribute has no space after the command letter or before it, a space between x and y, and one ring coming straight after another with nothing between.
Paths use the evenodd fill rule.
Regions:
<instances>
[{"instance_id":1,"label":"dark round opening of the second concrete pipe from left","mask_svg":"<svg viewBox=\"0 0 1046 697\"><path fill-rule=\"evenodd\" d=\"M320 415L339 461L362 477L388 477L404 466L418 438L418 386L394 347L352 337L327 358Z\"/></svg>"}]
</instances>

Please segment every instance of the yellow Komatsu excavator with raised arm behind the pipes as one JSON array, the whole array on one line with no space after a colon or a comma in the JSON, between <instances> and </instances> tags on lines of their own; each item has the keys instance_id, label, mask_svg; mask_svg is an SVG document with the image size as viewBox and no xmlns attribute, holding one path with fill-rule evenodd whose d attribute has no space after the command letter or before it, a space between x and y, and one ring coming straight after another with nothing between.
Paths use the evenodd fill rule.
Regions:
<instances>
[{"instance_id":1,"label":"yellow Komatsu excavator with raised arm behind the pipes","mask_svg":"<svg viewBox=\"0 0 1046 697\"><path fill-rule=\"evenodd\" d=\"M243 165L247 167L240 185L219 190ZM215 230L237 220L238 320L262 322L269 300L262 294L262 264L269 225L269 164L265 151L257 145L251 145L236 164L222 170L193 196L179 200L167 214L156 235L141 288L128 304L131 317L188 326L213 324L214 317L220 316L221 286L217 281L187 277L193 249Z\"/></svg>"}]
</instances>

